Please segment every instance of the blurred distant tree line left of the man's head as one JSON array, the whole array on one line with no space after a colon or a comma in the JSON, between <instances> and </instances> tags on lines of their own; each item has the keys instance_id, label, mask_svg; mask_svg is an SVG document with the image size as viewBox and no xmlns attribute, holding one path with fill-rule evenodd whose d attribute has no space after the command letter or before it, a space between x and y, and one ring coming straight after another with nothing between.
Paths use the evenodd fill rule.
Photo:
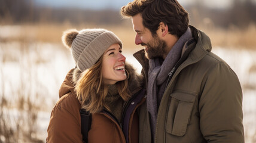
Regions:
<instances>
[{"instance_id":1,"label":"blurred distant tree line left of the man's head","mask_svg":"<svg viewBox=\"0 0 256 143\"><path fill-rule=\"evenodd\" d=\"M1 23L97 23L118 24L121 15L114 10L82 10L40 7L33 0L0 0Z\"/></svg>"}]
</instances>

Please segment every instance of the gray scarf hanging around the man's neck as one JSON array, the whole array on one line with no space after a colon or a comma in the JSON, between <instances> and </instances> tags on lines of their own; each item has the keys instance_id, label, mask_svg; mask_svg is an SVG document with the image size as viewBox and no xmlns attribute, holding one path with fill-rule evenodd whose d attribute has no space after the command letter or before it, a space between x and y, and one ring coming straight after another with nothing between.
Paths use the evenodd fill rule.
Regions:
<instances>
[{"instance_id":1,"label":"gray scarf hanging around the man's neck","mask_svg":"<svg viewBox=\"0 0 256 143\"><path fill-rule=\"evenodd\" d=\"M156 132L157 111L163 97L167 83L168 73L181 58L182 48L189 39L192 38L191 30L187 31L178 39L170 50L167 57L161 64L161 58L149 60L150 69L148 70L148 91L147 91L147 108L150 113L151 132L154 137Z\"/></svg>"}]
</instances>

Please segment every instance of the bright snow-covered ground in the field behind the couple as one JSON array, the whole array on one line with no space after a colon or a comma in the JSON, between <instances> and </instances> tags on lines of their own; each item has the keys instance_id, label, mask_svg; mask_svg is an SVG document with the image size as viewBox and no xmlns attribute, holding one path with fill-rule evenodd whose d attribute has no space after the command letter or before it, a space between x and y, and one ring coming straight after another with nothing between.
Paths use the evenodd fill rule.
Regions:
<instances>
[{"instance_id":1,"label":"bright snow-covered ground in the field behind the couple","mask_svg":"<svg viewBox=\"0 0 256 143\"><path fill-rule=\"evenodd\" d=\"M62 45L32 43L23 47L19 42L0 43L1 96L15 102L19 95L29 96L35 105L44 107L38 113L38 137L45 140L51 108L58 100L59 86L66 73L75 66L71 54ZM141 66L126 52L126 61L139 72ZM243 113L246 142L256 136L256 51L215 47L212 50L236 72L243 88ZM10 117L17 117L10 110Z\"/></svg>"}]
</instances>

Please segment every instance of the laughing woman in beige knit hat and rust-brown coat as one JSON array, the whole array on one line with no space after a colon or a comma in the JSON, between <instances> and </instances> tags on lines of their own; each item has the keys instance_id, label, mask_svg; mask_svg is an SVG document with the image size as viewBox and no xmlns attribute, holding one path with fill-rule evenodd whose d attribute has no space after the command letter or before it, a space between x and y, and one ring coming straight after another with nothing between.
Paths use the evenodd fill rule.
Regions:
<instances>
[{"instance_id":1,"label":"laughing woman in beige knit hat and rust-brown coat","mask_svg":"<svg viewBox=\"0 0 256 143\"><path fill-rule=\"evenodd\" d=\"M47 142L83 142L80 109L89 111L88 142L138 142L136 109L145 101L141 77L126 64L122 43L105 29L68 30L63 43L76 67L59 90Z\"/></svg>"}]
</instances>

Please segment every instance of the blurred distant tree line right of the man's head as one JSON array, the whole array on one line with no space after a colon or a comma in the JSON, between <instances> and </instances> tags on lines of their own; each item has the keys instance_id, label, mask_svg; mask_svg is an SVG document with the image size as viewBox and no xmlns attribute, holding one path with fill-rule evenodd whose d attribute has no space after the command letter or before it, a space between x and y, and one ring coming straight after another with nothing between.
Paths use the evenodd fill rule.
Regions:
<instances>
[{"instance_id":1,"label":"blurred distant tree line right of the man's head","mask_svg":"<svg viewBox=\"0 0 256 143\"><path fill-rule=\"evenodd\" d=\"M256 23L256 2L254 0L233 0L230 8L209 8L202 5L202 0L195 0L186 8L190 13L190 22L196 25L210 23L219 27L247 27Z\"/></svg>"}]
</instances>

